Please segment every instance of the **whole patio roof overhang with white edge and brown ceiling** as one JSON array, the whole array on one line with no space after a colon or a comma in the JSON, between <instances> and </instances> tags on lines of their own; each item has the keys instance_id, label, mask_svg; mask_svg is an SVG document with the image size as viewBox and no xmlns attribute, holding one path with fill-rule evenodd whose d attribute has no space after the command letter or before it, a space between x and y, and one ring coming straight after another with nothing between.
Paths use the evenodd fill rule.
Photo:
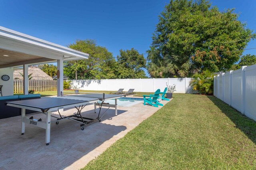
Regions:
<instances>
[{"instance_id":1,"label":"whole patio roof overhang with white edge and brown ceiling","mask_svg":"<svg viewBox=\"0 0 256 170\"><path fill-rule=\"evenodd\" d=\"M88 59L88 56L87 53L0 26L0 68L56 62L58 59Z\"/></svg>"}]
</instances>

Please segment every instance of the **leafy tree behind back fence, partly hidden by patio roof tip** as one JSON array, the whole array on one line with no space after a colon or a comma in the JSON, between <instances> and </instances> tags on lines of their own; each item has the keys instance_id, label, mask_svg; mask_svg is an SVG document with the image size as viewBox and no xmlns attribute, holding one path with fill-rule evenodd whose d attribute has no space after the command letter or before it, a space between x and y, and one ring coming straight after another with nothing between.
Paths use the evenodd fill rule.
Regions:
<instances>
[{"instance_id":1,"label":"leafy tree behind back fence, partly hidden by patio roof tip","mask_svg":"<svg viewBox=\"0 0 256 170\"><path fill-rule=\"evenodd\" d=\"M64 74L70 79L116 78L118 64L105 47L98 46L94 40L77 40L68 47L90 54L88 59L64 63Z\"/></svg>"}]
</instances>

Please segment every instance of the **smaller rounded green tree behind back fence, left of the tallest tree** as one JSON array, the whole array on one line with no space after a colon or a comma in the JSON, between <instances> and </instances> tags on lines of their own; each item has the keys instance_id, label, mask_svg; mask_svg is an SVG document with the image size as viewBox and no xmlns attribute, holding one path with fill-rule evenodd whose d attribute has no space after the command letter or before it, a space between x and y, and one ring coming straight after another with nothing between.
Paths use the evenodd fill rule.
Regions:
<instances>
[{"instance_id":1,"label":"smaller rounded green tree behind back fence, left of the tallest tree","mask_svg":"<svg viewBox=\"0 0 256 170\"><path fill-rule=\"evenodd\" d=\"M120 79L138 79L146 78L143 68L146 68L146 59L143 55L132 48L130 50L120 50L117 56L118 78Z\"/></svg>"}]
</instances>

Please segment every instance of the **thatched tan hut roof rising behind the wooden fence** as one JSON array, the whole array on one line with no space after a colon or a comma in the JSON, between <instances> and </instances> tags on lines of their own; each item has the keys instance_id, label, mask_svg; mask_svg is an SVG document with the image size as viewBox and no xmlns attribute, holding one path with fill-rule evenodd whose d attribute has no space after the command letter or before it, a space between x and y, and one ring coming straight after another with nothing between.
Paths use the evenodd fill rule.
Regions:
<instances>
[{"instance_id":1,"label":"thatched tan hut roof rising behind the wooden fence","mask_svg":"<svg viewBox=\"0 0 256 170\"><path fill-rule=\"evenodd\" d=\"M32 79L31 80L52 80L52 77L44 73L41 69L37 67L28 67L28 75L31 75ZM23 80L23 70L14 70L13 71L13 79L20 79Z\"/></svg>"}]
</instances>

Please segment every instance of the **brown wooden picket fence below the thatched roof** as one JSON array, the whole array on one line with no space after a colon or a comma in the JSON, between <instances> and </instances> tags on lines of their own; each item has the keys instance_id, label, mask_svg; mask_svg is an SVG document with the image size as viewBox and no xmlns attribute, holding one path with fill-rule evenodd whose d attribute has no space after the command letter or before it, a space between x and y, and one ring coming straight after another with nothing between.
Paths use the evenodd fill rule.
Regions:
<instances>
[{"instance_id":1,"label":"brown wooden picket fence below the thatched roof","mask_svg":"<svg viewBox=\"0 0 256 170\"><path fill-rule=\"evenodd\" d=\"M23 80L14 80L14 93L23 93ZM57 80L28 80L28 90L55 91Z\"/></svg>"}]
</instances>

